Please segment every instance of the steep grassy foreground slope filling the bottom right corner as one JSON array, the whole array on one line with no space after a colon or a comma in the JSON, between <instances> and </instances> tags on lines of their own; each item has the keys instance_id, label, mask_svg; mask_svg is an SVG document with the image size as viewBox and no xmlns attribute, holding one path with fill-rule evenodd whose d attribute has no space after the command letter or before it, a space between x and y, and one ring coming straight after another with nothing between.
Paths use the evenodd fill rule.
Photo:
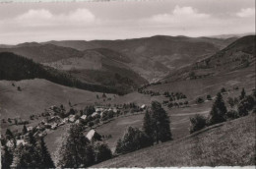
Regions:
<instances>
[{"instance_id":1,"label":"steep grassy foreground slope filling the bottom right corner","mask_svg":"<svg viewBox=\"0 0 256 169\"><path fill-rule=\"evenodd\" d=\"M255 165L255 114L104 161L93 167Z\"/></svg>"}]
</instances>

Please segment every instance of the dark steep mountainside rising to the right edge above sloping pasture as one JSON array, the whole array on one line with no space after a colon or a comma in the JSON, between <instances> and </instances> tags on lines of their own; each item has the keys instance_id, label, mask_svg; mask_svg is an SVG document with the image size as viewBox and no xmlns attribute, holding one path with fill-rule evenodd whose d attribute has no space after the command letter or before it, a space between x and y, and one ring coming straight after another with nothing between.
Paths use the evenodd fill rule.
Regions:
<instances>
[{"instance_id":1,"label":"dark steep mountainside rising to the right edge above sloping pasture","mask_svg":"<svg viewBox=\"0 0 256 169\"><path fill-rule=\"evenodd\" d=\"M247 67L252 67L252 69L254 67L255 69L255 43L255 35L238 38L216 54L181 68L161 81L204 78Z\"/></svg>"}]
</instances>

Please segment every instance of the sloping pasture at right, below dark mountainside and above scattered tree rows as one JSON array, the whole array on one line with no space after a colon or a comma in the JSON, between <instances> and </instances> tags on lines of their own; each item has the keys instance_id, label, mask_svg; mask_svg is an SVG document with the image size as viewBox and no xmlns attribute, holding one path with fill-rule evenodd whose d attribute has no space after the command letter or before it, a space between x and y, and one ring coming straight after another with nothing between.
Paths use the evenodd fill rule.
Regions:
<instances>
[{"instance_id":1,"label":"sloping pasture at right, below dark mountainside and above scattered tree rows","mask_svg":"<svg viewBox=\"0 0 256 169\"><path fill-rule=\"evenodd\" d=\"M208 77L204 79L179 81L175 83L151 85L147 90L154 90L163 93L169 92L183 92L187 95L189 101L194 101L197 97L203 96L206 98L207 94L216 95L221 88L233 89L234 86L239 88L247 88L251 90L255 87L255 67L249 67L242 70L225 73L215 77Z\"/></svg>"}]
</instances>

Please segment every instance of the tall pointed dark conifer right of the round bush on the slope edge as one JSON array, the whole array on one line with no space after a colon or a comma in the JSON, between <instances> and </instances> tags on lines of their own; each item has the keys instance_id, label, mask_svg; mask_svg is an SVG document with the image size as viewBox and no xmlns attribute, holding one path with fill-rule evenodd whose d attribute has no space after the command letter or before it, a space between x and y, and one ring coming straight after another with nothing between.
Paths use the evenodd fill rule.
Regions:
<instances>
[{"instance_id":1,"label":"tall pointed dark conifer right of the round bush on the slope edge","mask_svg":"<svg viewBox=\"0 0 256 169\"><path fill-rule=\"evenodd\" d=\"M226 107L224 105L224 100L221 92L217 94L216 101L213 104L212 110L210 112L209 123L214 125L217 123L222 123L225 121Z\"/></svg>"}]
</instances>

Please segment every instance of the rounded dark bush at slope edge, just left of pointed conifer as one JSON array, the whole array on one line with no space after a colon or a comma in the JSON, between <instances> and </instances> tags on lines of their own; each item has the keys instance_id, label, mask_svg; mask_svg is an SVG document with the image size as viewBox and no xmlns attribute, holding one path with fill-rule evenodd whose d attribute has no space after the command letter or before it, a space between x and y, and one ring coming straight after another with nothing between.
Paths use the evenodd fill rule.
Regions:
<instances>
[{"instance_id":1,"label":"rounded dark bush at slope edge, just left of pointed conifer","mask_svg":"<svg viewBox=\"0 0 256 169\"><path fill-rule=\"evenodd\" d=\"M207 120L204 116L196 114L195 117L190 118L190 134L205 128Z\"/></svg>"}]
</instances>

